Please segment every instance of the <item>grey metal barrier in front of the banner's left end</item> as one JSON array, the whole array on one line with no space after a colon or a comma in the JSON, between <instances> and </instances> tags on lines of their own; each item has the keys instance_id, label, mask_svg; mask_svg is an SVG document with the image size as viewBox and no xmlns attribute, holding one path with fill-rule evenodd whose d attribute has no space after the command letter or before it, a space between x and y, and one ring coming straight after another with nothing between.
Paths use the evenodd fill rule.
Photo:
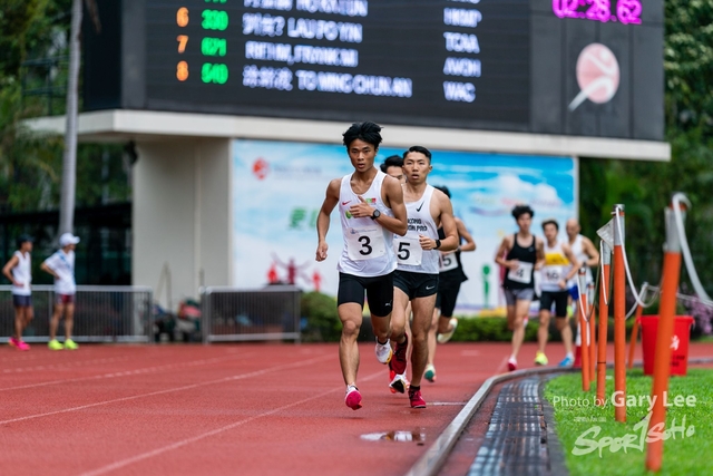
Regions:
<instances>
[{"instance_id":1,"label":"grey metal barrier in front of the banner's left end","mask_svg":"<svg viewBox=\"0 0 713 476\"><path fill-rule=\"evenodd\" d=\"M291 285L260 290L212 286L201 292L204 342L300 342L302 291Z\"/></svg>"}]
</instances>

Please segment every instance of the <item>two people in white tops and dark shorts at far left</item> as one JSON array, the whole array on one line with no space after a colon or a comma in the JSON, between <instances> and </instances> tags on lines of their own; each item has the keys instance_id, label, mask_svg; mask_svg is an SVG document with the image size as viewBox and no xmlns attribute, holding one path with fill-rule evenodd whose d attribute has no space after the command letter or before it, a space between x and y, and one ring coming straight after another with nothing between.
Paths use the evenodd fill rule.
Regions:
<instances>
[{"instance_id":1,"label":"two people in white tops and dark shorts at far left","mask_svg":"<svg viewBox=\"0 0 713 476\"><path fill-rule=\"evenodd\" d=\"M12 283L12 305L14 307L14 333L10 346L18 350L30 350L22 340L22 332L35 317L32 308L32 237L20 235L18 250L2 268L2 274ZM71 339L75 315L75 247L79 237L64 233L59 246L52 255L42 262L40 269L55 278L55 310L49 321L50 350L77 350L79 346ZM59 320L65 318L65 341L57 340Z\"/></svg>"}]
</instances>

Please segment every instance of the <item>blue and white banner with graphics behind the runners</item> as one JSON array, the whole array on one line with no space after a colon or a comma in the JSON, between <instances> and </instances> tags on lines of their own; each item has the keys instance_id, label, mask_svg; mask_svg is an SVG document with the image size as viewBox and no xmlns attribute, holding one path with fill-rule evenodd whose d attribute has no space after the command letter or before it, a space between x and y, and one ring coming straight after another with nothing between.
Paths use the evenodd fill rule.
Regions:
<instances>
[{"instance_id":1,"label":"blue and white banner with graphics behind the runners","mask_svg":"<svg viewBox=\"0 0 713 476\"><path fill-rule=\"evenodd\" d=\"M468 281L457 313L488 313L504 305L495 252L517 231L510 211L518 203L535 210L533 231L577 213L577 162L570 157L431 150L428 182L446 185L453 211L472 234L477 250L462 253ZM402 149L382 147L377 164ZM233 285L251 289L294 283L305 291L335 295L336 261L343 246L336 208L328 233L326 261L318 263L316 216L333 178L353 172L341 145L234 140Z\"/></svg>"}]
</instances>

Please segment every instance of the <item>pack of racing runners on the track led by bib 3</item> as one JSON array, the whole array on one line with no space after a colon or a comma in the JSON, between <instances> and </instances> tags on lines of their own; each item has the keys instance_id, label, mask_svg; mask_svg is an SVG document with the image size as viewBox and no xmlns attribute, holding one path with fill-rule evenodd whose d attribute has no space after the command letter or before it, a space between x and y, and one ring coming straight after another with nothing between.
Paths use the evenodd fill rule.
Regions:
<instances>
[{"instance_id":1,"label":"pack of racing runners on the track led by bib 3","mask_svg":"<svg viewBox=\"0 0 713 476\"><path fill-rule=\"evenodd\" d=\"M421 380L436 380L437 342L447 342L458 324L452 313L460 284L467 280L460 253L475 251L476 243L462 221L453 216L448 188L427 183L433 168L430 150L412 146L402 157L387 158L379 168L374 162L382 142L380 133L379 125L365 122L353 124L343 134L354 172L334 178L326 188L316 221L316 261L328 256L330 215L338 208L343 236L338 262L338 314L342 322L339 358L346 406L353 410L362 407L356 386L356 338L365 295L377 339L377 360L389 366L389 388L408 394L412 408L426 408ZM512 216L519 230L502 240L496 256L496 262L507 270L502 284L512 329L508 368L517 368L535 299L535 271L540 269L544 278L535 361L547 365L545 346L554 303L567 351L560 365L570 366L574 356L567 308L570 293L577 289L573 279L585 262L596 265L598 253L589 240L579 235L574 220L567 223L569 243L559 243L555 220L543 223L544 241L530 232L534 212L529 206L516 206Z\"/></svg>"}]
</instances>

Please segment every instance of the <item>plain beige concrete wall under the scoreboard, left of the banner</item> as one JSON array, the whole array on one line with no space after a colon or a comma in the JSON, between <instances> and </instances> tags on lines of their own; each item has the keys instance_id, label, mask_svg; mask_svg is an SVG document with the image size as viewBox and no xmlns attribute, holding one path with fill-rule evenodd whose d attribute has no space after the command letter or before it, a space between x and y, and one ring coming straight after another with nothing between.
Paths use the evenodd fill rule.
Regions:
<instances>
[{"instance_id":1,"label":"plain beige concrete wall under the scoreboard, left of the banner","mask_svg":"<svg viewBox=\"0 0 713 476\"><path fill-rule=\"evenodd\" d=\"M175 310L201 285L231 284L231 140L140 142L137 152L133 282Z\"/></svg>"}]
</instances>

